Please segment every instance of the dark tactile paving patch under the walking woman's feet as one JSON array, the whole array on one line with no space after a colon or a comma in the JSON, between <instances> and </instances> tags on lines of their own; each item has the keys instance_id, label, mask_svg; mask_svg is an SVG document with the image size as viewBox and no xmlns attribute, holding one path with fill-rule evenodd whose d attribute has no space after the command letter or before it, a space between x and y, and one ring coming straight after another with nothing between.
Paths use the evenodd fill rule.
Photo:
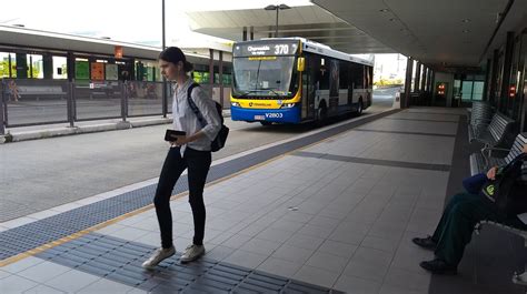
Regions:
<instances>
[{"instance_id":1,"label":"dark tactile paving patch under the walking woman's feet","mask_svg":"<svg viewBox=\"0 0 527 294\"><path fill-rule=\"evenodd\" d=\"M36 256L149 293L341 293L207 257L181 264L179 253L152 271L142 268L153 250L90 233Z\"/></svg>"}]
</instances>

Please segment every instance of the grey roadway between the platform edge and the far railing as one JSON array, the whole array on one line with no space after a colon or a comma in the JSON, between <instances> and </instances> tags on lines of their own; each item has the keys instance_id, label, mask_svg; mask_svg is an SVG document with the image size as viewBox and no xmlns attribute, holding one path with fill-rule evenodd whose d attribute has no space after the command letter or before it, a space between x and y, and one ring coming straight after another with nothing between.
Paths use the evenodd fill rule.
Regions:
<instances>
[{"instance_id":1,"label":"grey roadway between the platform edge and the far railing","mask_svg":"<svg viewBox=\"0 0 527 294\"><path fill-rule=\"evenodd\" d=\"M391 108L391 101L374 94L374 105L364 115ZM231 130L228 145L213 153L213 160L315 129L311 124L262 126L230 119L226 124ZM159 176L168 149L162 141L167 128L162 124L0 145L0 222Z\"/></svg>"}]
</instances>

